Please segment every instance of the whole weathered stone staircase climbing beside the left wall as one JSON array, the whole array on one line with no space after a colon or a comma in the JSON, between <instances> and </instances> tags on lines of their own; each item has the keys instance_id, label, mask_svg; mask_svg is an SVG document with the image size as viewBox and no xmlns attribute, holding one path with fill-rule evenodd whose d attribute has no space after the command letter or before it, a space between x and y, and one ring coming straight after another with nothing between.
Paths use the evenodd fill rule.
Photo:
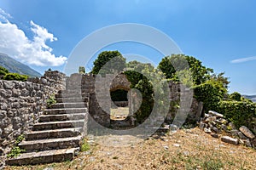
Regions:
<instances>
[{"instance_id":1,"label":"whole weathered stone staircase climbing beside the left wall","mask_svg":"<svg viewBox=\"0 0 256 170\"><path fill-rule=\"evenodd\" d=\"M57 103L44 110L32 131L19 144L26 150L9 158L8 165L40 164L70 161L79 151L87 133L89 94L77 89L61 90L55 95Z\"/></svg>"}]
</instances>

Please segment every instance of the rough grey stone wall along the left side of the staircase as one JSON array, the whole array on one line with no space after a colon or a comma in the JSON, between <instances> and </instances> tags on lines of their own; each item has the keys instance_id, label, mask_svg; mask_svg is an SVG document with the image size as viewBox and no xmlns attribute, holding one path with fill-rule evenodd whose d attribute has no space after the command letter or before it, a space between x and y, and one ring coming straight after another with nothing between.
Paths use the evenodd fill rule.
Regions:
<instances>
[{"instance_id":1,"label":"rough grey stone wall along the left side of the staircase","mask_svg":"<svg viewBox=\"0 0 256 170\"><path fill-rule=\"evenodd\" d=\"M59 71L46 71L44 77L28 82L0 80L0 167L15 139L38 121L49 95L65 88L65 77Z\"/></svg>"}]
</instances>

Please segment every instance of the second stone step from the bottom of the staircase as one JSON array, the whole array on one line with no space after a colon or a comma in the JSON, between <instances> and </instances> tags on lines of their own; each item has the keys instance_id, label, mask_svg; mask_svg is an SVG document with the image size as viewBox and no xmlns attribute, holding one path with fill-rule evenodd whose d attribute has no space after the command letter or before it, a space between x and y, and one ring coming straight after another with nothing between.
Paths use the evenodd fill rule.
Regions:
<instances>
[{"instance_id":1,"label":"second stone step from the bottom of the staircase","mask_svg":"<svg viewBox=\"0 0 256 170\"><path fill-rule=\"evenodd\" d=\"M59 138L59 139L39 139L39 140L23 140L20 144L20 149L26 150L25 152L32 152L34 150L58 150L67 148L79 147L82 136L76 136L71 138Z\"/></svg>"}]
</instances>

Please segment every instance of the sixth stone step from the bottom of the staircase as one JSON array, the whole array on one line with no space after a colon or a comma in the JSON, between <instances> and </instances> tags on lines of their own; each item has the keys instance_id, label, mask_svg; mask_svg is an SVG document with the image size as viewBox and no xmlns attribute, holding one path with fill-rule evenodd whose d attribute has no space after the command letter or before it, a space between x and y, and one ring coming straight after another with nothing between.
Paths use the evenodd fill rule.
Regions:
<instances>
[{"instance_id":1,"label":"sixth stone step from the bottom of the staircase","mask_svg":"<svg viewBox=\"0 0 256 170\"><path fill-rule=\"evenodd\" d=\"M88 113L87 108L61 108L61 109L45 109L45 115L60 115L72 113Z\"/></svg>"}]
</instances>

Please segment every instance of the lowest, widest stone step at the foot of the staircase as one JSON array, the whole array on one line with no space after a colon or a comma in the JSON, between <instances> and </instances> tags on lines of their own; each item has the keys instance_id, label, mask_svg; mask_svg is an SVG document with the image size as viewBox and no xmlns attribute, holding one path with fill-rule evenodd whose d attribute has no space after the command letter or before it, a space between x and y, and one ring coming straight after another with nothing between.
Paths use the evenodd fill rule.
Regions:
<instances>
[{"instance_id":1,"label":"lowest, widest stone step at the foot of the staircase","mask_svg":"<svg viewBox=\"0 0 256 170\"><path fill-rule=\"evenodd\" d=\"M79 148L69 148L61 150L45 150L31 153L23 153L20 156L7 160L6 164L10 166L21 166L60 161L72 161L73 156L75 156L76 152L78 151Z\"/></svg>"}]
</instances>

